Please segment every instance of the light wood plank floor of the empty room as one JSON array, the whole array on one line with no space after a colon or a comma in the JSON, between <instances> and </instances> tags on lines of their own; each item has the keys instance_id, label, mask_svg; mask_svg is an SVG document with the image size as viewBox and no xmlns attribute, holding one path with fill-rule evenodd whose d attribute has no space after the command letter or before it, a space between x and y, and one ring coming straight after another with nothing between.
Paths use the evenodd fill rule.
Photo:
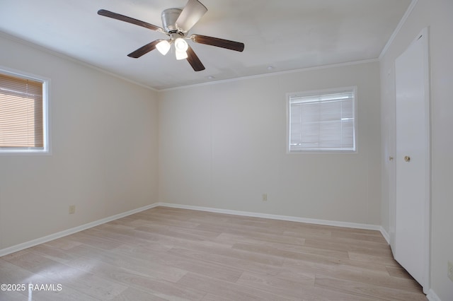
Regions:
<instances>
[{"instance_id":1,"label":"light wood plank floor of the empty room","mask_svg":"<svg viewBox=\"0 0 453 301\"><path fill-rule=\"evenodd\" d=\"M427 300L377 231L165 207L0 257L0 283L54 284L38 301Z\"/></svg>"}]
</instances>

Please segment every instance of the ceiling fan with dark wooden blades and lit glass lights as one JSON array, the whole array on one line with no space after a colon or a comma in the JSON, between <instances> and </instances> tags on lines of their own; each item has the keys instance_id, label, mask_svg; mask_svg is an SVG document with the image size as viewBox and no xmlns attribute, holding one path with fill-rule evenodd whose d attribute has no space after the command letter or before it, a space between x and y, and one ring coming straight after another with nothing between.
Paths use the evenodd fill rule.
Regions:
<instances>
[{"instance_id":1,"label":"ceiling fan with dark wooden blades and lit glass lights","mask_svg":"<svg viewBox=\"0 0 453 301\"><path fill-rule=\"evenodd\" d=\"M192 47L190 47L185 40L192 40L195 43L222 47L238 52L242 52L244 48L244 45L241 42L224 40L218 37L208 37L206 35L188 35L188 31L206 12L207 8L200 1L189 0L183 9L168 8L162 12L161 18L163 28L120 15L119 13L106 11L105 9L99 10L98 15L132 23L168 35L168 39L159 39L150 42L134 52L127 54L128 57L137 59L154 49L158 49L161 54L165 55L168 50L170 50L171 45L175 45L176 59L187 59L194 71L202 71L205 70L205 66L203 66L202 62L197 57L197 54L195 54Z\"/></svg>"}]
</instances>

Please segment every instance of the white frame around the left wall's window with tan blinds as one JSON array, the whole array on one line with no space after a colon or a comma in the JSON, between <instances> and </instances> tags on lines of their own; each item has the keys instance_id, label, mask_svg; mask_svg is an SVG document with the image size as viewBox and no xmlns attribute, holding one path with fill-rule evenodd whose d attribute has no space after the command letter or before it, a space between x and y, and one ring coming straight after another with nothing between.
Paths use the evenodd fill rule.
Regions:
<instances>
[{"instance_id":1,"label":"white frame around the left wall's window with tan blinds","mask_svg":"<svg viewBox=\"0 0 453 301\"><path fill-rule=\"evenodd\" d=\"M30 147L0 147L0 155L50 155L50 78L37 76L23 71L8 69L0 66L0 73L16 78L29 79L30 81L38 81L42 83L42 148Z\"/></svg>"}]
</instances>

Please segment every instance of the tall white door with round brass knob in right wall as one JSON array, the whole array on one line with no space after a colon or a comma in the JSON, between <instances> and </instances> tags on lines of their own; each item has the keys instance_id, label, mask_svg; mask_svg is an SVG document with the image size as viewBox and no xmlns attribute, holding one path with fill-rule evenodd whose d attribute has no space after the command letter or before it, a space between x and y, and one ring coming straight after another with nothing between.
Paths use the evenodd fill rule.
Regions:
<instances>
[{"instance_id":1,"label":"tall white door with round brass knob in right wall","mask_svg":"<svg viewBox=\"0 0 453 301\"><path fill-rule=\"evenodd\" d=\"M395 259L428 290L430 118L428 30L395 61ZM427 292L425 292L427 293Z\"/></svg>"}]
</instances>

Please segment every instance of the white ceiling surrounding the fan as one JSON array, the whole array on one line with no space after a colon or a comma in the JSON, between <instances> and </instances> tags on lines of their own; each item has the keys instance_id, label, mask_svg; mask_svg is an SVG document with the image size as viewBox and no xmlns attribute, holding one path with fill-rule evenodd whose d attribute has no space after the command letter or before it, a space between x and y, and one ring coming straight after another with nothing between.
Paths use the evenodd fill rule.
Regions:
<instances>
[{"instance_id":1,"label":"white ceiling surrounding the fan","mask_svg":"<svg viewBox=\"0 0 453 301\"><path fill-rule=\"evenodd\" d=\"M243 52L189 42L206 69L156 50L166 35L98 16L104 8L161 25L186 0L0 0L0 31L157 90L243 76L377 59L411 0L201 0L190 33L243 42ZM1 45L0 45L1 48ZM271 69L269 67L272 67ZM211 78L213 77L213 78Z\"/></svg>"}]
</instances>

